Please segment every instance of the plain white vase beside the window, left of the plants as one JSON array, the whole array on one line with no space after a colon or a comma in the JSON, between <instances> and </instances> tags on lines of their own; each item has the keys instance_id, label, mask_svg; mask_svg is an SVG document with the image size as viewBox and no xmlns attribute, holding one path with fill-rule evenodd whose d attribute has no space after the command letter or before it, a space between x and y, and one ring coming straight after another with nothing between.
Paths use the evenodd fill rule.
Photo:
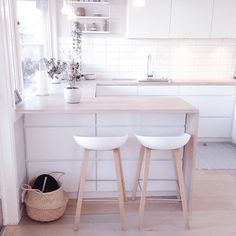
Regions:
<instances>
[{"instance_id":1,"label":"plain white vase beside the window, left of the plants","mask_svg":"<svg viewBox=\"0 0 236 236\"><path fill-rule=\"evenodd\" d=\"M47 96L48 92L48 73L47 71L36 71L35 73L37 80L37 95Z\"/></svg>"}]
</instances>

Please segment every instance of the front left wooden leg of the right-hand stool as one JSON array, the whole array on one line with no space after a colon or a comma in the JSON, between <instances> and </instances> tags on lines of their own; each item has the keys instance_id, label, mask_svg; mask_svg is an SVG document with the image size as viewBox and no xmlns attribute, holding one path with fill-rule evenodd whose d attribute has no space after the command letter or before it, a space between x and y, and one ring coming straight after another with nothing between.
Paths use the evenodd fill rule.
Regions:
<instances>
[{"instance_id":1,"label":"front left wooden leg of the right-hand stool","mask_svg":"<svg viewBox=\"0 0 236 236\"><path fill-rule=\"evenodd\" d=\"M145 210L146 195L147 195L147 181L149 175L150 159L151 159L151 149L146 148L143 187L142 187L140 207L139 207L139 229L143 228L144 226L144 210Z\"/></svg>"}]
</instances>

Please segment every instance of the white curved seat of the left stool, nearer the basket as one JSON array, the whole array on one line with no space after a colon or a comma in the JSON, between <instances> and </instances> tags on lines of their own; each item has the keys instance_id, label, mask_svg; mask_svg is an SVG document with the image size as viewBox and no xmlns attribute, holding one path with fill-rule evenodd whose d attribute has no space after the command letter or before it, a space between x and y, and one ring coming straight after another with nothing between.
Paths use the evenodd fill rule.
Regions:
<instances>
[{"instance_id":1,"label":"white curved seat of the left stool, nearer the basket","mask_svg":"<svg viewBox=\"0 0 236 236\"><path fill-rule=\"evenodd\" d=\"M78 145L85 149L94 151L109 151L123 146L128 139L128 135L121 137L74 136L74 139Z\"/></svg>"}]
</instances>

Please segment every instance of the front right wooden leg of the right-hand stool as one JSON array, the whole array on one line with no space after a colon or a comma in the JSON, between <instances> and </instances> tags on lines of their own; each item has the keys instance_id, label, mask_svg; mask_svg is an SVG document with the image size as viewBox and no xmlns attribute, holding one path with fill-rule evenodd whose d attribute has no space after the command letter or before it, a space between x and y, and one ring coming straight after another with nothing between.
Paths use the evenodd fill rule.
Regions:
<instances>
[{"instance_id":1,"label":"front right wooden leg of the right-hand stool","mask_svg":"<svg viewBox=\"0 0 236 236\"><path fill-rule=\"evenodd\" d=\"M180 196L181 196L181 203L182 203L182 210L184 216L185 227L189 229L189 216L188 216L188 209L187 209L187 201L186 201L186 192L185 192L185 184L184 184L184 176L182 170L182 160L181 160L181 153L180 149L176 149L172 151L173 158L176 164L177 176L179 181L179 189L180 189Z\"/></svg>"}]
</instances>

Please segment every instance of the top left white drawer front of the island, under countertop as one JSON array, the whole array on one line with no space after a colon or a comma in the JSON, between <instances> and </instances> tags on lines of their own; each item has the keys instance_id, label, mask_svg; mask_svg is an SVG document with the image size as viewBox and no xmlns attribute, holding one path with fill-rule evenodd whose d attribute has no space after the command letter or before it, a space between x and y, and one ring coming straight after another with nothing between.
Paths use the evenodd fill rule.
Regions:
<instances>
[{"instance_id":1,"label":"top left white drawer front of the island, under countertop","mask_svg":"<svg viewBox=\"0 0 236 236\"><path fill-rule=\"evenodd\" d=\"M94 126L95 114L25 115L25 126Z\"/></svg>"}]
</instances>

